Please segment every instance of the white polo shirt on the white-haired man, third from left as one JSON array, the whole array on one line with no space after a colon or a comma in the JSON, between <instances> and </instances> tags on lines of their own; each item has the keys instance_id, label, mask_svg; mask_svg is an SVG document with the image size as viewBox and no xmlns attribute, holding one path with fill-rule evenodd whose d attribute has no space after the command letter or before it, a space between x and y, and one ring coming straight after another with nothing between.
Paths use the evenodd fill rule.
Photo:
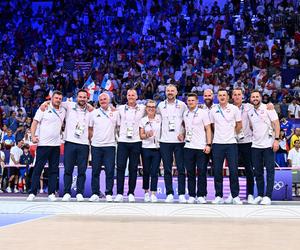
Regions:
<instances>
[{"instance_id":1,"label":"white polo shirt on the white-haired man, third from left","mask_svg":"<svg viewBox=\"0 0 300 250\"><path fill-rule=\"evenodd\" d=\"M95 109L90 114L89 127L93 128L92 146L110 147L116 146L116 127L119 112L111 108L104 110Z\"/></svg>"}]
</instances>

